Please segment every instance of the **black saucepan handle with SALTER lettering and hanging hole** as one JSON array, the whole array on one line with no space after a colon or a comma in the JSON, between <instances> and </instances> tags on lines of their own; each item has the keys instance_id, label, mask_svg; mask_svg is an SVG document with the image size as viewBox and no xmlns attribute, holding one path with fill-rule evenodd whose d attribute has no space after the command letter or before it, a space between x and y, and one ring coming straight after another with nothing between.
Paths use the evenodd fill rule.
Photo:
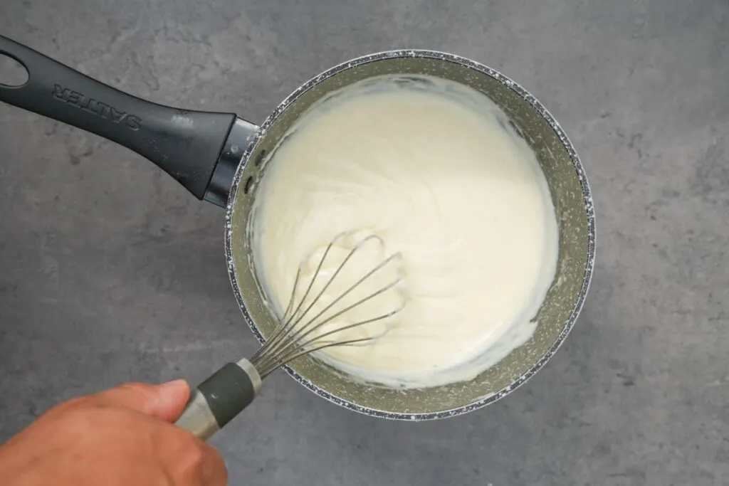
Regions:
<instances>
[{"instance_id":1,"label":"black saucepan handle with SALTER lettering and hanging hole","mask_svg":"<svg viewBox=\"0 0 729 486\"><path fill-rule=\"evenodd\" d=\"M144 101L3 36L0 54L17 60L28 71L24 85L0 84L0 101L108 138L147 157L198 199L205 197L222 205L206 197L206 191L235 114ZM227 192L222 203L225 199Z\"/></svg>"}]
</instances>

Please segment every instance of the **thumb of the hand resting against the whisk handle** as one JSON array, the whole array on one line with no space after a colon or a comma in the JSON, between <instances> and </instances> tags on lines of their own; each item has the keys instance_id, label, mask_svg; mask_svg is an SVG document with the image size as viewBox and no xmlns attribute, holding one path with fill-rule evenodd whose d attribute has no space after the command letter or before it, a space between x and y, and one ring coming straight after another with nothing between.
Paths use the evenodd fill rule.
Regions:
<instances>
[{"instance_id":1,"label":"thumb of the hand resting against the whisk handle","mask_svg":"<svg viewBox=\"0 0 729 486\"><path fill-rule=\"evenodd\" d=\"M165 422L174 422L190 399L190 386L185 380L163 385L126 383L90 396L100 407L121 407L137 410Z\"/></svg>"}]
</instances>

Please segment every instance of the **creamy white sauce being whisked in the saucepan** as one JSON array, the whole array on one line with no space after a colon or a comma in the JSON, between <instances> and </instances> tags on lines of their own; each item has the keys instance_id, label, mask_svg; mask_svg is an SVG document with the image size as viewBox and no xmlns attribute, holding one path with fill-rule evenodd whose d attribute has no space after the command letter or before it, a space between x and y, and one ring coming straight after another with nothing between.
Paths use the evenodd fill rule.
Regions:
<instances>
[{"instance_id":1,"label":"creamy white sauce being whisked in the saucepan","mask_svg":"<svg viewBox=\"0 0 729 486\"><path fill-rule=\"evenodd\" d=\"M558 256L545 176L506 115L475 90L419 78L360 82L304 114L268 160L253 227L257 273L279 317L300 262L308 283L340 232L356 234L338 241L327 275L362 235L384 246L368 242L321 302L402 254L397 288L327 324L388 313L403 292L401 312L337 339L384 335L317 353L358 380L401 388L470 380L528 341ZM397 277L391 263L369 290Z\"/></svg>"}]
</instances>

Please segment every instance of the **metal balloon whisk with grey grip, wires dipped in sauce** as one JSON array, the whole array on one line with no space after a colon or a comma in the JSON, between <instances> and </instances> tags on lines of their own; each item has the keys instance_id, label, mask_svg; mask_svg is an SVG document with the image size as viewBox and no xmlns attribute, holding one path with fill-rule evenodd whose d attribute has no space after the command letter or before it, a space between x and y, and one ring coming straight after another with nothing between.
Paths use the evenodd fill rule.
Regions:
<instances>
[{"instance_id":1,"label":"metal balloon whisk with grey grip, wires dipped in sauce","mask_svg":"<svg viewBox=\"0 0 729 486\"><path fill-rule=\"evenodd\" d=\"M399 289L399 283L404 278L402 254L385 257L381 255L384 254L384 243L380 237L364 235L358 238L359 235L359 232L340 233L328 243L314 265L311 265L311 261L318 256L316 252L303 259L297 269L286 310L265 345L251 358L230 362L200 383L192 391L190 401L176 425L207 440L253 401L262 380L279 367L308 353L334 346L370 345L389 332L392 324L388 318L405 307L405 295ZM356 240L354 245L346 245L352 240ZM348 270L359 268L359 265L354 264L355 257L364 254L368 243L375 245L378 264L363 272L364 275L358 273L354 283L332 296L327 292L332 283L338 277L343 278ZM328 264L335 259L335 254L343 256L341 262ZM312 269L313 275L306 283L305 274ZM386 283L379 284L378 277L390 274ZM375 288L367 289L368 283L370 287L374 283ZM371 316L359 315L368 302L371 304L375 297L382 295L394 297L388 302L391 308L387 307L386 312L380 310ZM358 310L359 313L353 312ZM354 321L339 324L347 315L357 317ZM364 336L346 335L362 331L368 324L378 321L384 324L379 326L381 329L368 326L372 329L366 329L370 333L365 332ZM375 330L378 332L373 332Z\"/></svg>"}]
</instances>

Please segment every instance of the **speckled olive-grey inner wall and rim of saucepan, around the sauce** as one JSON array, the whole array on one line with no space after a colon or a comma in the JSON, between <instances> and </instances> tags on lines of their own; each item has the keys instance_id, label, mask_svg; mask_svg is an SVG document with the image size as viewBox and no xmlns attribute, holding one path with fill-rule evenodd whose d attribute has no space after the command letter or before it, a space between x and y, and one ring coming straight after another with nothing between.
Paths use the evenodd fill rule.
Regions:
<instances>
[{"instance_id":1,"label":"speckled olive-grey inner wall and rim of saucepan, around the sauce","mask_svg":"<svg viewBox=\"0 0 729 486\"><path fill-rule=\"evenodd\" d=\"M558 219L557 272L536 316L539 324L534 336L474 380L421 390L394 390L350 380L311 357L300 358L286 367L286 372L307 388L359 412L405 420L443 418L496 401L545 364L577 318L593 266L595 229L592 200L577 155L551 115L510 79L464 58L430 51L391 51L370 55L332 68L312 79L266 120L256 140L249 146L247 164L238 168L231 203L227 208L228 267L246 321L258 339L265 340L276 326L276 321L262 298L252 264L249 219L267 156L313 103L332 90L383 74L427 74L449 79L475 88L501 106L516 130L537 153Z\"/></svg>"}]
</instances>

